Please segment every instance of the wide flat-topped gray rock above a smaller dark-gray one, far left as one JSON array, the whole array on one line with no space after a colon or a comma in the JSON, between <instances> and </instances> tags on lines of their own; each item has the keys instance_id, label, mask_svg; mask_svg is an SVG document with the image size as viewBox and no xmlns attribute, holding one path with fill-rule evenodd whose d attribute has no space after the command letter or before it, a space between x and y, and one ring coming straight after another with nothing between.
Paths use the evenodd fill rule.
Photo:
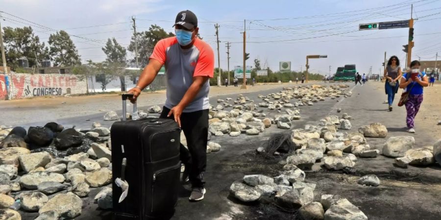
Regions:
<instances>
[{"instance_id":1,"label":"wide flat-topped gray rock above a smaller dark-gray one, far left","mask_svg":"<svg viewBox=\"0 0 441 220\"><path fill-rule=\"evenodd\" d=\"M64 180L65 178L61 174L36 171L20 177L20 185L26 189L37 189L38 184L42 182L54 181L62 183Z\"/></svg>"}]
</instances>

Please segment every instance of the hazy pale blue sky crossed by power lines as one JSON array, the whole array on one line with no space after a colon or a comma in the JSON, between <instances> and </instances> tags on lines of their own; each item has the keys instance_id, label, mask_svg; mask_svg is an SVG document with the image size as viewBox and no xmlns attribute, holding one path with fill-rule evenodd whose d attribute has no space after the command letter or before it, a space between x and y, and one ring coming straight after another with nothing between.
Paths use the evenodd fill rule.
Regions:
<instances>
[{"instance_id":1,"label":"hazy pale blue sky crossed by power lines","mask_svg":"<svg viewBox=\"0 0 441 220\"><path fill-rule=\"evenodd\" d=\"M107 38L129 44L131 16L137 18L138 31L147 30L151 24L173 31L177 12L189 9L198 17L201 36L215 51L214 24L219 23L223 69L227 68L226 42L232 42L230 68L242 65L245 19L251 58L247 65L258 58L262 66L278 70L280 61L291 61L292 70L300 70L305 68L306 55L322 54L328 58L310 60L310 68L329 74L329 66L334 73L344 64L356 64L360 72L366 73L372 66L372 72L378 73L385 51L388 57L397 55L404 61L402 45L407 44L407 28L358 31L358 24L407 20L411 3L416 11L414 18L420 18L415 22L412 58L418 59L418 55L421 60L434 60L437 51L441 54L441 0L0 0L0 10L102 41L72 38L83 60L98 62L105 59L100 47ZM10 19L2 21L2 26L25 25ZM85 28L102 24L112 25ZM38 27L34 30L44 41L53 33Z\"/></svg>"}]
</instances>

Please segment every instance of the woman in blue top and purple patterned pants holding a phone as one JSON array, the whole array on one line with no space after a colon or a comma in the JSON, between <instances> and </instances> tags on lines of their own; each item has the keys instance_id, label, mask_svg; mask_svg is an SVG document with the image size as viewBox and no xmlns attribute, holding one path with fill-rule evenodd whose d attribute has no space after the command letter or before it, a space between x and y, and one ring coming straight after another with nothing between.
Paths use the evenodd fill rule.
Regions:
<instances>
[{"instance_id":1,"label":"woman in blue top and purple patterned pants holding a phone","mask_svg":"<svg viewBox=\"0 0 441 220\"><path fill-rule=\"evenodd\" d=\"M429 86L427 75L419 71L419 66L421 66L419 61L412 61L411 71L406 72L400 82L400 88L409 92L409 99L406 102L406 124L409 133L415 133L415 116L423 100L423 87Z\"/></svg>"}]
</instances>

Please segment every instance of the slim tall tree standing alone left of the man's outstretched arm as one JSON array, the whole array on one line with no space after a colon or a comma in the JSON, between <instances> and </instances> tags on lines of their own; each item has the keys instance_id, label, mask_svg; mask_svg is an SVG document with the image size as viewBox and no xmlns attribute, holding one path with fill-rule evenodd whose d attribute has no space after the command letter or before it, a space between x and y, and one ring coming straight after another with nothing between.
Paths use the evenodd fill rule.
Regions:
<instances>
[{"instance_id":1,"label":"slim tall tree standing alone left of the man's outstretched arm","mask_svg":"<svg viewBox=\"0 0 441 220\"><path fill-rule=\"evenodd\" d=\"M102 51L107 56L107 66L113 69L110 74L120 78L121 91L125 91L126 71L124 67L126 66L127 51L121 44L118 44L115 38L107 39L106 46L102 47Z\"/></svg>"}]
</instances>

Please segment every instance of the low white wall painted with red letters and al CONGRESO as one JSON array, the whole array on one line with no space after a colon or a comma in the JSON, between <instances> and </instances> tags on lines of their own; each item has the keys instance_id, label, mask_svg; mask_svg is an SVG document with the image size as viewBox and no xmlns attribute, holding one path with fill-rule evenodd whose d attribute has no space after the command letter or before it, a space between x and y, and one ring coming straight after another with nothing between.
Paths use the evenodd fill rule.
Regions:
<instances>
[{"instance_id":1,"label":"low white wall painted with red letters and al CONGRESO","mask_svg":"<svg viewBox=\"0 0 441 220\"><path fill-rule=\"evenodd\" d=\"M27 74L14 73L8 77L11 97L25 98L34 96L54 96L86 93L86 80L80 81L70 74ZM0 76L0 99L6 95L6 82Z\"/></svg>"}]
</instances>

